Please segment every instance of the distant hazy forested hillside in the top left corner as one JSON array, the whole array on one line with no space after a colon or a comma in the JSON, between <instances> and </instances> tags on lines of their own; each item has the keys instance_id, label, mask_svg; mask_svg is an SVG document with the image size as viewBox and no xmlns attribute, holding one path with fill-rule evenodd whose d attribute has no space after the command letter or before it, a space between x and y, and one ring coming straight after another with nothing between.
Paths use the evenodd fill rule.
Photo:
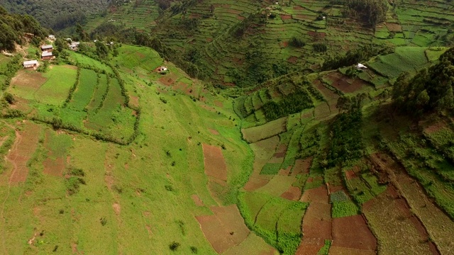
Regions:
<instances>
[{"instance_id":1,"label":"distant hazy forested hillside in the top left corner","mask_svg":"<svg viewBox=\"0 0 454 255\"><path fill-rule=\"evenodd\" d=\"M0 5L8 11L29 14L43 26L60 30L76 23L83 23L87 15L106 11L109 0L0 0Z\"/></svg>"}]
</instances>

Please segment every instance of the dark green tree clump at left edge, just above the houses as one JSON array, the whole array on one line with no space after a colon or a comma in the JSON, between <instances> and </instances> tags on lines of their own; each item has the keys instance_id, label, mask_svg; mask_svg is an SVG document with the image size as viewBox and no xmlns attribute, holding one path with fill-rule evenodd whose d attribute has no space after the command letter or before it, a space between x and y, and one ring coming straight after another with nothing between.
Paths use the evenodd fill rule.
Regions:
<instances>
[{"instance_id":1,"label":"dark green tree clump at left edge, just above the houses","mask_svg":"<svg viewBox=\"0 0 454 255\"><path fill-rule=\"evenodd\" d=\"M14 43L23 42L23 33L32 33L32 42L39 43L48 30L29 15L9 14L0 6L0 50L14 50Z\"/></svg>"}]
</instances>

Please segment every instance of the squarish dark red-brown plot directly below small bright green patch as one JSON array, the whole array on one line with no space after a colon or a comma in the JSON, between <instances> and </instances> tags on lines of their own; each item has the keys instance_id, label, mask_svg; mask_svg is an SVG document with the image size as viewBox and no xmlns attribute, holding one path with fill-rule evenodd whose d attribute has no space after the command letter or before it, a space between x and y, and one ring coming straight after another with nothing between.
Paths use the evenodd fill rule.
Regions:
<instances>
[{"instance_id":1,"label":"squarish dark red-brown plot directly below small bright green patch","mask_svg":"<svg viewBox=\"0 0 454 255\"><path fill-rule=\"evenodd\" d=\"M333 246L370 250L377 249L377 240L362 215L333 219Z\"/></svg>"}]
</instances>

